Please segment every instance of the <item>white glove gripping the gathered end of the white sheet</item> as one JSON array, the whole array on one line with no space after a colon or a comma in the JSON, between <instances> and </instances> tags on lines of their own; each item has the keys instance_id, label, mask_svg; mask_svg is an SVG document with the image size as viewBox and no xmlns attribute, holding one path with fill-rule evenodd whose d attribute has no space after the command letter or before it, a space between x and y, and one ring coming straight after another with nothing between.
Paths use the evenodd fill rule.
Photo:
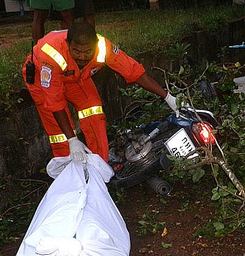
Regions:
<instances>
[{"instance_id":1,"label":"white glove gripping the gathered end of the white sheet","mask_svg":"<svg viewBox=\"0 0 245 256\"><path fill-rule=\"evenodd\" d=\"M70 158L72 158L72 160L86 163L88 160L88 156L86 153L92 153L92 151L89 150L88 147L83 144L83 142L79 141L77 137L72 137L68 139L68 142L70 148Z\"/></svg>"}]
</instances>

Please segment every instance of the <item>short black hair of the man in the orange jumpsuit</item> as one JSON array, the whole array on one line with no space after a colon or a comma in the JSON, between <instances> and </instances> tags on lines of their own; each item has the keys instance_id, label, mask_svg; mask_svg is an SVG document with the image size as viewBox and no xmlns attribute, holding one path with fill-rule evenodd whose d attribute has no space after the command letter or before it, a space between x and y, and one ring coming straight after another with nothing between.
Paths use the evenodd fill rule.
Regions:
<instances>
[{"instance_id":1,"label":"short black hair of the man in the orange jumpsuit","mask_svg":"<svg viewBox=\"0 0 245 256\"><path fill-rule=\"evenodd\" d=\"M80 45L96 44L97 35L94 26L89 23L75 23L68 29L67 41L69 44L71 42Z\"/></svg>"}]
</instances>

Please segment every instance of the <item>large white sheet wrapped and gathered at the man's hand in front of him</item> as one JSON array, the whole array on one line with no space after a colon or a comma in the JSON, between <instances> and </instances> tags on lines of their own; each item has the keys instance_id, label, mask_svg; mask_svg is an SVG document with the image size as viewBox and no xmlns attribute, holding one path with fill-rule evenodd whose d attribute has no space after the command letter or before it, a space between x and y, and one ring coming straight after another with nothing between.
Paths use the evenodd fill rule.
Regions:
<instances>
[{"instance_id":1,"label":"large white sheet wrapped and gathered at the man's hand in front of him","mask_svg":"<svg viewBox=\"0 0 245 256\"><path fill-rule=\"evenodd\" d=\"M88 184L82 163L69 157L50 161L47 171L55 180L43 196L17 256L40 255L42 248L45 255L52 256L129 255L126 224L104 183L113 176L113 170L95 154L89 154L87 169ZM74 247L74 235L81 247L76 244L77 250L65 252L62 245L64 248L67 242L66 247ZM57 249L47 248L48 241Z\"/></svg>"}]
</instances>

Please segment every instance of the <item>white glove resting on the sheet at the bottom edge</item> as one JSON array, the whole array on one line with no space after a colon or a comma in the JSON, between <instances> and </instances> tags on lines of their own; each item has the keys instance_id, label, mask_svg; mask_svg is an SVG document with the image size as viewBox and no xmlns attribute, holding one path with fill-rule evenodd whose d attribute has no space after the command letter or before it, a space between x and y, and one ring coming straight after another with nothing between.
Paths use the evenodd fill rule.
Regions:
<instances>
[{"instance_id":1,"label":"white glove resting on the sheet at the bottom edge","mask_svg":"<svg viewBox=\"0 0 245 256\"><path fill-rule=\"evenodd\" d=\"M83 247L75 238L44 236L36 247L36 255L79 256Z\"/></svg>"}]
</instances>

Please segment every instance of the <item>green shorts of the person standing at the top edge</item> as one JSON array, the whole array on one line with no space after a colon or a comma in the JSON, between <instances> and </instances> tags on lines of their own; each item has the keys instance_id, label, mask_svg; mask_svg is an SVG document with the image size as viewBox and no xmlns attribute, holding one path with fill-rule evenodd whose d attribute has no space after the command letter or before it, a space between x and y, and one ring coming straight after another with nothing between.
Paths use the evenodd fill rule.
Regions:
<instances>
[{"instance_id":1,"label":"green shorts of the person standing at the top edge","mask_svg":"<svg viewBox=\"0 0 245 256\"><path fill-rule=\"evenodd\" d=\"M29 2L29 3L28 3ZM53 10L68 10L75 7L74 0L29 0L27 1L32 9L49 10L51 6Z\"/></svg>"}]
</instances>

